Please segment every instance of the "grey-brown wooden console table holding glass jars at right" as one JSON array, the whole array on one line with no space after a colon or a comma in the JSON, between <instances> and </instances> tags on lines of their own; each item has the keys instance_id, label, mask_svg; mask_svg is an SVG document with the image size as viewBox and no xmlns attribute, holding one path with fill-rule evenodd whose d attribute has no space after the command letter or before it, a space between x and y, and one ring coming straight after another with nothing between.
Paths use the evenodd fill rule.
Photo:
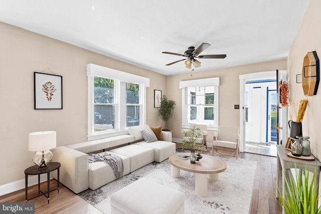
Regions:
<instances>
[{"instance_id":1,"label":"grey-brown wooden console table holding glass jars at right","mask_svg":"<svg viewBox=\"0 0 321 214\"><path fill-rule=\"evenodd\" d=\"M307 166L309 166L308 170L312 173L314 173L314 169L315 169L316 170L315 182L319 186L319 174L320 174L320 166L321 166L320 161L318 161L317 159L307 161L307 160L299 160L292 157L288 157L286 153L289 151L284 148L284 145L276 145L276 150L277 150L276 187L280 189L279 178L281 178L283 197L285 196L285 185L286 185L285 178L289 178L289 175L291 173L290 172L291 168L297 168L302 171L302 169L305 170ZM317 189L317 194L318 194L318 189Z\"/></svg>"}]
</instances>

